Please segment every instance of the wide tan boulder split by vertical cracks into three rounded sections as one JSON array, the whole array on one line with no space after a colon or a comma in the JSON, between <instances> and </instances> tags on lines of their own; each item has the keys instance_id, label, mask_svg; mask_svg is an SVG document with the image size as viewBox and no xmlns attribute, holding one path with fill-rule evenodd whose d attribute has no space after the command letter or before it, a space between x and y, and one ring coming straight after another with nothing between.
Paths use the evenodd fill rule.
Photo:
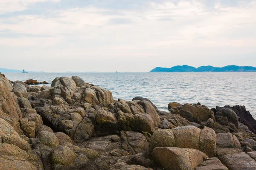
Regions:
<instances>
[{"instance_id":1,"label":"wide tan boulder split by vertical cracks into three rounded sections","mask_svg":"<svg viewBox=\"0 0 256 170\"><path fill-rule=\"evenodd\" d=\"M151 137L150 148L153 150L155 147L193 148L212 157L215 156L216 151L216 134L208 127L203 130L195 126L160 129Z\"/></svg>"}]
</instances>

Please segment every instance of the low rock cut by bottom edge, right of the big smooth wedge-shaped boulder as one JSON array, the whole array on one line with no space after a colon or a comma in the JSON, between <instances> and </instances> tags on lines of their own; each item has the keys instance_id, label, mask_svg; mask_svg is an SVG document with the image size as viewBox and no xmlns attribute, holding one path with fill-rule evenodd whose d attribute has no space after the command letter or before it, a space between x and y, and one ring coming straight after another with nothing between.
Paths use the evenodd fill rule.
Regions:
<instances>
[{"instance_id":1,"label":"low rock cut by bottom edge, right of the big smooth wedge-shaped boulder","mask_svg":"<svg viewBox=\"0 0 256 170\"><path fill-rule=\"evenodd\" d=\"M195 168L195 170L228 170L228 168L218 158L210 158L201 164L200 167Z\"/></svg>"}]
</instances>

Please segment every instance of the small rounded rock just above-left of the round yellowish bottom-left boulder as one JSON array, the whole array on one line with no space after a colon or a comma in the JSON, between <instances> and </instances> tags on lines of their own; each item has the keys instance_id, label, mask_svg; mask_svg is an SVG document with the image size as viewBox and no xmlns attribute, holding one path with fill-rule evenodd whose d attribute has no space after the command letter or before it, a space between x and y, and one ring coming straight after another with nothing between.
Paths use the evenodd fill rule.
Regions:
<instances>
[{"instance_id":1,"label":"small rounded rock just above-left of the round yellowish bottom-left boulder","mask_svg":"<svg viewBox=\"0 0 256 170\"><path fill-rule=\"evenodd\" d=\"M49 147L57 147L59 145L58 138L54 135L54 133L47 131L40 131L38 133L38 140L40 143Z\"/></svg>"}]
</instances>

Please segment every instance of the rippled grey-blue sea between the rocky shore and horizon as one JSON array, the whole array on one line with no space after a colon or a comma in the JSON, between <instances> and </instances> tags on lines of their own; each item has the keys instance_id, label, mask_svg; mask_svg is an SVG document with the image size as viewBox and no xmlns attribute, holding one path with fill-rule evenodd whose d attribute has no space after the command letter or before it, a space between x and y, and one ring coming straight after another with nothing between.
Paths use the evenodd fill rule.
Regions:
<instances>
[{"instance_id":1,"label":"rippled grey-blue sea between the rocky shore and horizon","mask_svg":"<svg viewBox=\"0 0 256 170\"><path fill-rule=\"evenodd\" d=\"M113 99L151 100L159 110L168 111L170 102L200 102L216 105L244 105L256 118L256 72L170 72L170 73L5 73L16 81L36 79L52 82L56 77L79 76L85 82L112 91ZM50 84L49 84L50 86Z\"/></svg>"}]
</instances>

